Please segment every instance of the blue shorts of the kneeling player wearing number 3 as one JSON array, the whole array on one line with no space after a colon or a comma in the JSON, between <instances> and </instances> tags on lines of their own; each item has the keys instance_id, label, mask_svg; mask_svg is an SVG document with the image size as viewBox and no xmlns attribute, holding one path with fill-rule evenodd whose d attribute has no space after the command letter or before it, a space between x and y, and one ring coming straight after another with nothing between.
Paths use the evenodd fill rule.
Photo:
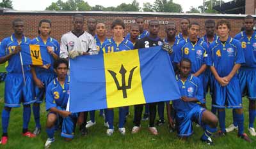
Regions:
<instances>
[{"instance_id":1,"label":"blue shorts of the kneeling player wearing number 3","mask_svg":"<svg viewBox=\"0 0 256 149\"><path fill-rule=\"evenodd\" d=\"M65 108L58 108L60 110L65 110ZM52 112L49 112L52 113ZM74 138L74 132L76 129L76 122L77 122L77 117L78 113L72 113L66 118L61 117L61 115L57 115L58 120L56 121L56 127L59 126L60 122L62 122L62 127L61 127L61 136L64 138Z\"/></svg>"}]
</instances>

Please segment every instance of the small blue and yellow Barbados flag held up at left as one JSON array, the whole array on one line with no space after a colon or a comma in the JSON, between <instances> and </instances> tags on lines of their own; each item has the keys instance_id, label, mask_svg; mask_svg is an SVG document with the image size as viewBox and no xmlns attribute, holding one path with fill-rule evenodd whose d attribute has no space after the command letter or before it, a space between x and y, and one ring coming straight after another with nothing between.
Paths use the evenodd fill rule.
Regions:
<instances>
[{"instance_id":1,"label":"small blue and yellow Barbados flag held up at left","mask_svg":"<svg viewBox=\"0 0 256 149\"><path fill-rule=\"evenodd\" d=\"M51 64L46 46L20 44L23 65Z\"/></svg>"}]
</instances>

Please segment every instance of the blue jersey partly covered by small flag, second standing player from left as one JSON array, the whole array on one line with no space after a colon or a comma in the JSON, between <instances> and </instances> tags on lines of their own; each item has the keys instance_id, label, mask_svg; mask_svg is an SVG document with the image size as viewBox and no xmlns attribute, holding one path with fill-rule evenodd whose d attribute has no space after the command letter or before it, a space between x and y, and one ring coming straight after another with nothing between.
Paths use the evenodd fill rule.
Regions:
<instances>
[{"instance_id":1,"label":"blue jersey partly covered by small flag, second standing player from left","mask_svg":"<svg viewBox=\"0 0 256 149\"><path fill-rule=\"evenodd\" d=\"M43 39L40 36L38 36L32 39L29 44L40 45L40 46L51 46L54 53L56 53L56 55L58 56L60 55L60 44L54 38L49 37L47 38L47 41L44 42ZM54 58L51 56L51 67L49 69L44 69L42 67L35 67L36 73L54 73L53 63L54 63Z\"/></svg>"}]
</instances>

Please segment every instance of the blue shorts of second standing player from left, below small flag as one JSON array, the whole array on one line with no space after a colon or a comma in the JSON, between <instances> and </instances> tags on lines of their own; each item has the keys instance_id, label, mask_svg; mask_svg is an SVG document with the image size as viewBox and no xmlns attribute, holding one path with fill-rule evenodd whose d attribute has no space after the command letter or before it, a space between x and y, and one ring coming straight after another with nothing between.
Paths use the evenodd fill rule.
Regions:
<instances>
[{"instance_id":1,"label":"blue shorts of second standing player from left, below small flag","mask_svg":"<svg viewBox=\"0 0 256 149\"><path fill-rule=\"evenodd\" d=\"M45 90L48 84L56 77L54 73L40 73L37 75L37 78L44 83L44 88L39 89L35 85L35 96L36 96L36 103L42 103L45 98Z\"/></svg>"}]
</instances>

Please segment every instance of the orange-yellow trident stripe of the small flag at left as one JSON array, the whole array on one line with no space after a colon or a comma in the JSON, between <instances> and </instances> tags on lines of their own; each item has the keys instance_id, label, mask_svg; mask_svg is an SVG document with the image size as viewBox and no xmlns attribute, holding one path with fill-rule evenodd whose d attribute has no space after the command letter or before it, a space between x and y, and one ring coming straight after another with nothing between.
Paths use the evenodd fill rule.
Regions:
<instances>
[{"instance_id":1,"label":"orange-yellow trident stripe of the small flag at left","mask_svg":"<svg viewBox=\"0 0 256 149\"><path fill-rule=\"evenodd\" d=\"M40 53L40 45L29 45L31 61L33 65L43 65L43 60Z\"/></svg>"}]
</instances>

